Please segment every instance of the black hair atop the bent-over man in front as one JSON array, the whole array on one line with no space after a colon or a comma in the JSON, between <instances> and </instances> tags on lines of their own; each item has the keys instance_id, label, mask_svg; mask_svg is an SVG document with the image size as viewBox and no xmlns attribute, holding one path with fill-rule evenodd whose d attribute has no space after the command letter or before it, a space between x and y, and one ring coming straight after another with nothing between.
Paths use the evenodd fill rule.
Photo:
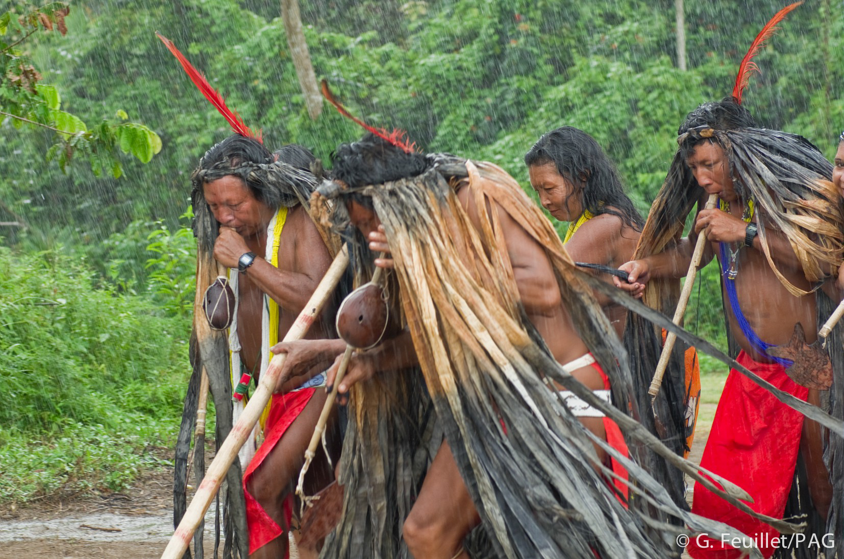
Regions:
<instances>
[{"instance_id":1,"label":"black hair atop the bent-over man in front","mask_svg":"<svg viewBox=\"0 0 844 559\"><path fill-rule=\"evenodd\" d=\"M430 166L425 155L397 148L373 133L351 144L340 144L331 155L332 176L351 189L398 181L418 176ZM365 208L372 209L372 200L358 192L342 195Z\"/></svg>"}]
</instances>

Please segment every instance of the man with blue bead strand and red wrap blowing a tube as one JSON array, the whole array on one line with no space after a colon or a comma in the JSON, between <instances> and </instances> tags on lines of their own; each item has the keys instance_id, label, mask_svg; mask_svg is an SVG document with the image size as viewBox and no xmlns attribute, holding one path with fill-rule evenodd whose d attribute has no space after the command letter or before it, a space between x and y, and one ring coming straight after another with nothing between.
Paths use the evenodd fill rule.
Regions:
<instances>
[{"instance_id":1,"label":"man with blue bead strand and red wrap blowing a tube","mask_svg":"<svg viewBox=\"0 0 844 559\"><path fill-rule=\"evenodd\" d=\"M720 208L701 209L690 236L674 246L669 243L664 252L625 263L621 269L630 273L630 283L616 280L616 285L641 296L652 280L682 277L696 236L705 232L708 243L701 265L716 256L722 267L730 333L742 349L738 362L777 388L817 404L816 391L787 377L784 366L789 363L769 355L768 349L786 345L797 323L802 324L808 343L816 339L813 291L841 258L841 235L824 219L825 215L841 217L840 194L829 182L830 166L803 138L755 128L749 112L733 97L698 107L679 134L677 168L669 171L661 193L664 204L657 204L649 220L671 226L666 220L671 214L679 218L682 228L684 215L676 207L668 209L674 199L679 206L683 199L699 198L701 207L704 199L716 194ZM737 146L742 149L738 155ZM748 153L752 154L750 163L739 159ZM775 156L777 160L772 159ZM784 195L790 198L788 204L782 202ZM813 214L813 207L829 213ZM797 213L805 217L800 222L803 227L782 219ZM803 258L798 258L794 247L800 247ZM809 470L814 506L825 515L830 486L821 448L820 430L813 421L804 421L803 415L733 371L701 465L748 490L754 499L750 506L756 511L782 518L799 452ZM692 510L755 538L766 556L774 551L776 530L739 512L700 484L695 486ZM738 557L741 553L717 539L694 538L689 551L693 557Z\"/></svg>"}]
</instances>

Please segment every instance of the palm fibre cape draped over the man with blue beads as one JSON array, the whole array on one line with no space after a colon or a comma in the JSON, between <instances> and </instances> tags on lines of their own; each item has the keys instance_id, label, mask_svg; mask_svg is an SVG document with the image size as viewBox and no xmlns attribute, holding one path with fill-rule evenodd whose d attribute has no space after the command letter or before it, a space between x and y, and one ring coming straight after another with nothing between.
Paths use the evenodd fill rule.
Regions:
<instances>
[{"instance_id":1,"label":"palm fibre cape draped over the man with blue beads","mask_svg":"<svg viewBox=\"0 0 844 559\"><path fill-rule=\"evenodd\" d=\"M681 136L678 143L694 144L701 138L711 138L724 149L738 197L754 201L760 241L776 277L793 295L807 295L809 292L785 279L778 264L771 258L766 240L768 228L782 231L787 236L803 265L807 279L816 286L814 296L818 311L817 325L820 328L835 304L818 288L827 279L828 272L825 269L838 269L844 250L844 216L841 213L840 195L830 182L830 163L805 138L766 128L693 128ZM652 204L633 258L645 258L674 247L682 236L686 217L695 208L701 193L701 187L685 165L682 151L678 150L663 187ZM670 314L676 307L678 295L679 279L652 279L647 284L644 302L648 307ZM725 302L725 307L727 305ZM652 324L642 317L630 313L625 345L639 354L632 360L632 366L638 368L634 371L637 377L648 377L656 367L659 355L648 351L643 341L656 335L652 328ZM844 348L841 345L841 329L833 330L830 335L832 337L826 349L830 353L834 377L830 390L822 393L821 408L840 421L844 419ZM731 348L735 348L732 337L730 341ZM736 368L744 373L743 367ZM801 484L795 480L786 513L809 514L809 530L815 534L836 534L835 547L826 552L830 557L835 553L841 556L844 555L844 438L841 431L833 429L825 437L824 457L834 491L826 527L819 518L813 518L814 507L807 500L808 490L804 480L802 491L799 491ZM804 547L803 552L806 550L808 548ZM798 549L798 557L800 551ZM787 553L790 556L791 550Z\"/></svg>"}]
</instances>

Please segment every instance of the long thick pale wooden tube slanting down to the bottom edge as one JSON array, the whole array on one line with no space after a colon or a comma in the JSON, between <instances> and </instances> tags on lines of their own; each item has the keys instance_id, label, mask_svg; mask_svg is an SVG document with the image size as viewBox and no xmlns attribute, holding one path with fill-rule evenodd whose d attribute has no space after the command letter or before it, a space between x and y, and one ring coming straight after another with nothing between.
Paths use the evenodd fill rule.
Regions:
<instances>
[{"instance_id":1,"label":"long thick pale wooden tube slanting down to the bottom edge","mask_svg":"<svg viewBox=\"0 0 844 559\"><path fill-rule=\"evenodd\" d=\"M284 336L284 342L290 342L295 339L301 339L307 332L311 323L317 317L317 314L322 310L322 306L331 296L334 288L337 286L346 267L349 265L349 252L346 247L341 252L338 252L337 257L331 267L328 268L325 276L317 285L317 290L314 291L311 299L307 302L295 323ZM232 462L237 458L237 452L241 449L246 439L252 433L252 427L255 426L258 419L260 419L264 407L267 405L270 397L275 391L276 384L279 381L279 374L281 373L284 361L287 359L286 353L273 356L270 361L267 372L261 376L261 382L249 403L244 407L241 416L231 428L229 436L225 437L225 441L217 451L217 456L208 467L208 473L205 475L203 482L197 487L197 492L193 496L191 504L188 505L185 515L181 518L179 527L170 538L170 543L167 544L161 559L181 559L182 554L187 550L187 545L193 537L193 532L205 516L205 511L211 501L214 500L214 495L217 494L220 484L223 482L226 471L228 471Z\"/></svg>"}]
</instances>

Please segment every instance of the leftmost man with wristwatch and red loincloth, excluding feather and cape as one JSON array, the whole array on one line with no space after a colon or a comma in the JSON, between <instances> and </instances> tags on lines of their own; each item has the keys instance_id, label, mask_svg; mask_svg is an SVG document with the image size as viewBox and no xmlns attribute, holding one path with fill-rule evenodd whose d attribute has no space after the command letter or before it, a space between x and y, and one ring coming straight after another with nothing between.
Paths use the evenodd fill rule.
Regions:
<instances>
[{"instance_id":1,"label":"leftmost man with wristwatch and red loincloth, excluding feather and cape","mask_svg":"<svg viewBox=\"0 0 844 559\"><path fill-rule=\"evenodd\" d=\"M235 135L209 149L194 172L194 187L201 188L219 223L214 258L231 270L230 280L236 276L233 364L256 383L262 362L272 356L269 345L284 337L331 263L317 227L300 204L300 197L307 199L310 193L297 195L293 186L305 177L310 188L304 190L312 190L314 179L306 170L283 169L275 163L279 155L282 162L299 166L311 157L296 146L273 155L256 139ZM331 316L333 309L327 309L308 337L332 337ZM268 332L262 327L265 320ZM273 395L265 440L244 475L252 557L287 556L291 489L325 399L325 392L312 386ZM311 471L311 491L333 476L324 458Z\"/></svg>"}]
</instances>

